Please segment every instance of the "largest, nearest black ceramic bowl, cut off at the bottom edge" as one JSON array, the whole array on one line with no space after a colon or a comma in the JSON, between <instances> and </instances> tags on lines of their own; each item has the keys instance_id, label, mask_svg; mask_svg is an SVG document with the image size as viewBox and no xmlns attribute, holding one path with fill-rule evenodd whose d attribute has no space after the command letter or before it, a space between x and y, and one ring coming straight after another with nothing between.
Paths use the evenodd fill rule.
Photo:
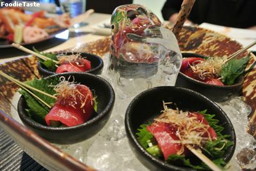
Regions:
<instances>
[{"instance_id":1,"label":"largest, nearest black ceramic bowl, cut off at the bottom edge","mask_svg":"<svg viewBox=\"0 0 256 171\"><path fill-rule=\"evenodd\" d=\"M215 114L214 119L220 121L220 125L225 129L221 132L224 135L230 135L230 140L236 145L236 134L227 115L214 102L202 96L195 91L184 89L182 87L155 87L138 94L127 108L125 114L125 130L132 151L150 170L193 170L188 167L166 163L163 160L151 156L138 142L136 133L141 124L152 122L161 110L163 110L163 101L173 102L183 111L202 111L207 109L207 113ZM228 162L235 150L235 145L228 147L223 158Z\"/></svg>"}]
</instances>

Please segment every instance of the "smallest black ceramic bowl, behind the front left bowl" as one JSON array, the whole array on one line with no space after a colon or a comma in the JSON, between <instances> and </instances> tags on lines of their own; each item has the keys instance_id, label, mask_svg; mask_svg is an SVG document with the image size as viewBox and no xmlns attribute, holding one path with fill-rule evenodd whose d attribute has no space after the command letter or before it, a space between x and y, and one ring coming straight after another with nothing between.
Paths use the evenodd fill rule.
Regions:
<instances>
[{"instance_id":1,"label":"smallest black ceramic bowl, behind the front left bowl","mask_svg":"<svg viewBox=\"0 0 256 171\"><path fill-rule=\"evenodd\" d=\"M67 55L72 55L72 52L67 52ZM94 54L88 54L88 53L81 53L81 56L84 59L87 59L88 61L91 62L92 69L85 71L86 73L92 73L95 75L100 75L102 73L103 60L101 57L96 56ZM42 75L43 77L47 77L49 75L56 74L55 72L47 70L47 68L45 68L44 64L41 64L40 62L38 62L37 69L38 69L40 75Z\"/></svg>"}]
</instances>

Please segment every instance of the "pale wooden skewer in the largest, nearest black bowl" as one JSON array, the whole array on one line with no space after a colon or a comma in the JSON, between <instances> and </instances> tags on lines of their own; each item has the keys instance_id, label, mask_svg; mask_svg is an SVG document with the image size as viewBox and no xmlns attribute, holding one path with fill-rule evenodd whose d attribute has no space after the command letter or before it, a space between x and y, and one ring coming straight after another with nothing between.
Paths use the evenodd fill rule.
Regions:
<instances>
[{"instance_id":1,"label":"pale wooden skewer in the largest, nearest black bowl","mask_svg":"<svg viewBox=\"0 0 256 171\"><path fill-rule=\"evenodd\" d=\"M200 150L194 149L191 147L191 145L186 145L186 147L188 147L188 149L193 152L193 154L195 154L200 160L202 160L209 168L214 171L221 171L221 169L215 163L209 160L209 158L207 158L207 156L205 156Z\"/></svg>"}]
</instances>

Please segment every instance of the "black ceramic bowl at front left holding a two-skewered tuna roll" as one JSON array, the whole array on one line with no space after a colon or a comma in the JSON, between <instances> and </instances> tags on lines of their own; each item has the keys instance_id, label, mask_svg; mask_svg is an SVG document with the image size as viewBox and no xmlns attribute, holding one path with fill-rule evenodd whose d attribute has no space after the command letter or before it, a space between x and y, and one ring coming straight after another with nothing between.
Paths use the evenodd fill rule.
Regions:
<instances>
[{"instance_id":1,"label":"black ceramic bowl at front left holding a two-skewered tuna roll","mask_svg":"<svg viewBox=\"0 0 256 171\"><path fill-rule=\"evenodd\" d=\"M103 78L90 73L60 73L45 79L61 76L68 78L70 75L74 77L77 83L90 87L97 96L97 112L94 112L92 117L85 123L65 128L44 126L28 117L25 110L28 107L23 96L20 97L18 103L18 112L22 123L41 137L58 144L76 143L95 135L107 123L115 102L115 92L111 85Z\"/></svg>"}]
</instances>

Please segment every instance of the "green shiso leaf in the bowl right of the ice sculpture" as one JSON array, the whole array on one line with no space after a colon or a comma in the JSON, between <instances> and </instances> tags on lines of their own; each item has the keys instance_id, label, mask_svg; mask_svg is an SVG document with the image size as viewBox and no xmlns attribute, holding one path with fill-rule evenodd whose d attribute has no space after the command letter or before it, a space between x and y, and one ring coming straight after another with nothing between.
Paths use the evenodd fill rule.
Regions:
<instances>
[{"instance_id":1,"label":"green shiso leaf in the bowl right of the ice sculpture","mask_svg":"<svg viewBox=\"0 0 256 171\"><path fill-rule=\"evenodd\" d=\"M235 83L236 79L243 75L244 70L250 57L244 57L241 59L232 59L225 63L221 70L222 82L225 85L232 85Z\"/></svg>"}]
</instances>

